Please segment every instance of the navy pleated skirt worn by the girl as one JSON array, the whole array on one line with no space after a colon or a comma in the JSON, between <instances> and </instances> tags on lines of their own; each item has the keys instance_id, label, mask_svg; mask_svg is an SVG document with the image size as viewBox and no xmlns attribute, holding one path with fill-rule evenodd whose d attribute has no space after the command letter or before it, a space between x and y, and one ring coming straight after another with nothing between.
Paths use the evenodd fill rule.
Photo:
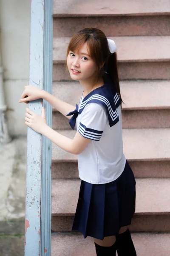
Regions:
<instances>
[{"instance_id":1,"label":"navy pleated skirt worn by the girl","mask_svg":"<svg viewBox=\"0 0 170 256\"><path fill-rule=\"evenodd\" d=\"M131 224L135 212L136 181L128 162L122 174L105 184L81 181L72 230L86 238L103 239Z\"/></svg>"}]
</instances>

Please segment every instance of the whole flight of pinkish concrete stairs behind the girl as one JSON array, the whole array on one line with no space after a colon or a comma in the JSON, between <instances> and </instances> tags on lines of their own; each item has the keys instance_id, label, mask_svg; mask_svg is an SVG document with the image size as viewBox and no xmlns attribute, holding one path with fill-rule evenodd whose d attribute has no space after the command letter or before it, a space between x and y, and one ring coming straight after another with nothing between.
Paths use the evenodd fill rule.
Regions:
<instances>
[{"instance_id":1,"label":"whole flight of pinkish concrete stairs behind the girl","mask_svg":"<svg viewBox=\"0 0 170 256\"><path fill-rule=\"evenodd\" d=\"M68 42L85 27L114 38L122 92L124 153L136 177L130 230L138 256L170 255L170 1L54 0L53 95L76 105L79 82L65 69ZM73 138L53 108L52 128ZM78 156L52 145L51 256L95 256L91 237L71 232Z\"/></svg>"}]
</instances>

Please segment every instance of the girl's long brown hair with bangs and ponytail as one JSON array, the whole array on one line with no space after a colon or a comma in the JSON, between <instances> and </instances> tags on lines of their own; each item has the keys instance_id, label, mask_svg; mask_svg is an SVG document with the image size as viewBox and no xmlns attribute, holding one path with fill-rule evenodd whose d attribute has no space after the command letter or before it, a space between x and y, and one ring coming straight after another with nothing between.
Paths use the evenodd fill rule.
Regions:
<instances>
[{"instance_id":1,"label":"girl's long brown hair with bangs and ponytail","mask_svg":"<svg viewBox=\"0 0 170 256\"><path fill-rule=\"evenodd\" d=\"M105 80L105 76L108 75L109 79L112 81L113 91L116 90L122 100L117 70L117 55L116 52L111 54L108 46L108 40L100 29L85 28L77 32L77 34L71 38L66 57L68 57L69 51L79 53L80 48L85 42L87 42L91 58L97 64L98 79L99 76L102 75L102 78ZM100 69L100 66L103 63L105 64L102 69Z\"/></svg>"}]
</instances>

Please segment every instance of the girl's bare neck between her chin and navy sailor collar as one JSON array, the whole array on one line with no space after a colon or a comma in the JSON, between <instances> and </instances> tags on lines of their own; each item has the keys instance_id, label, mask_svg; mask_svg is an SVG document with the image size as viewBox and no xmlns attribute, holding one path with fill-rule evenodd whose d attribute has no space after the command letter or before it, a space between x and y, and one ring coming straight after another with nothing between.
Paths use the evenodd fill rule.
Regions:
<instances>
[{"instance_id":1,"label":"girl's bare neck between her chin and navy sailor collar","mask_svg":"<svg viewBox=\"0 0 170 256\"><path fill-rule=\"evenodd\" d=\"M102 86L104 84L104 81L101 78L98 79L98 81L95 83L95 81L87 81L87 80L81 80L79 81L83 88L83 97L87 96L89 93L91 93L92 90Z\"/></svg>"}]
</instances>

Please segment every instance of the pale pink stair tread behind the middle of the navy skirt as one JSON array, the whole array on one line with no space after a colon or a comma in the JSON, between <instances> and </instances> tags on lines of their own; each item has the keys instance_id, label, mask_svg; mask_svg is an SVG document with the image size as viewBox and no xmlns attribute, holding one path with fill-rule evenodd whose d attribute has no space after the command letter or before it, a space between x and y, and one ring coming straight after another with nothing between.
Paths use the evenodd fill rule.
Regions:
<instances>
[{"instance_id":1,"label":"pale pink stair tread behind the middle of the navy skirt","mask_svg":"<svg viewBox=\"0 0 170 256\"><path fill-rule=\"evenodd\" d=\"M80 180L52 180L52 215L69 216L76 211ZM170 215L170 179L136 179L136 214Z\"/></svg>"}]
</instances>

